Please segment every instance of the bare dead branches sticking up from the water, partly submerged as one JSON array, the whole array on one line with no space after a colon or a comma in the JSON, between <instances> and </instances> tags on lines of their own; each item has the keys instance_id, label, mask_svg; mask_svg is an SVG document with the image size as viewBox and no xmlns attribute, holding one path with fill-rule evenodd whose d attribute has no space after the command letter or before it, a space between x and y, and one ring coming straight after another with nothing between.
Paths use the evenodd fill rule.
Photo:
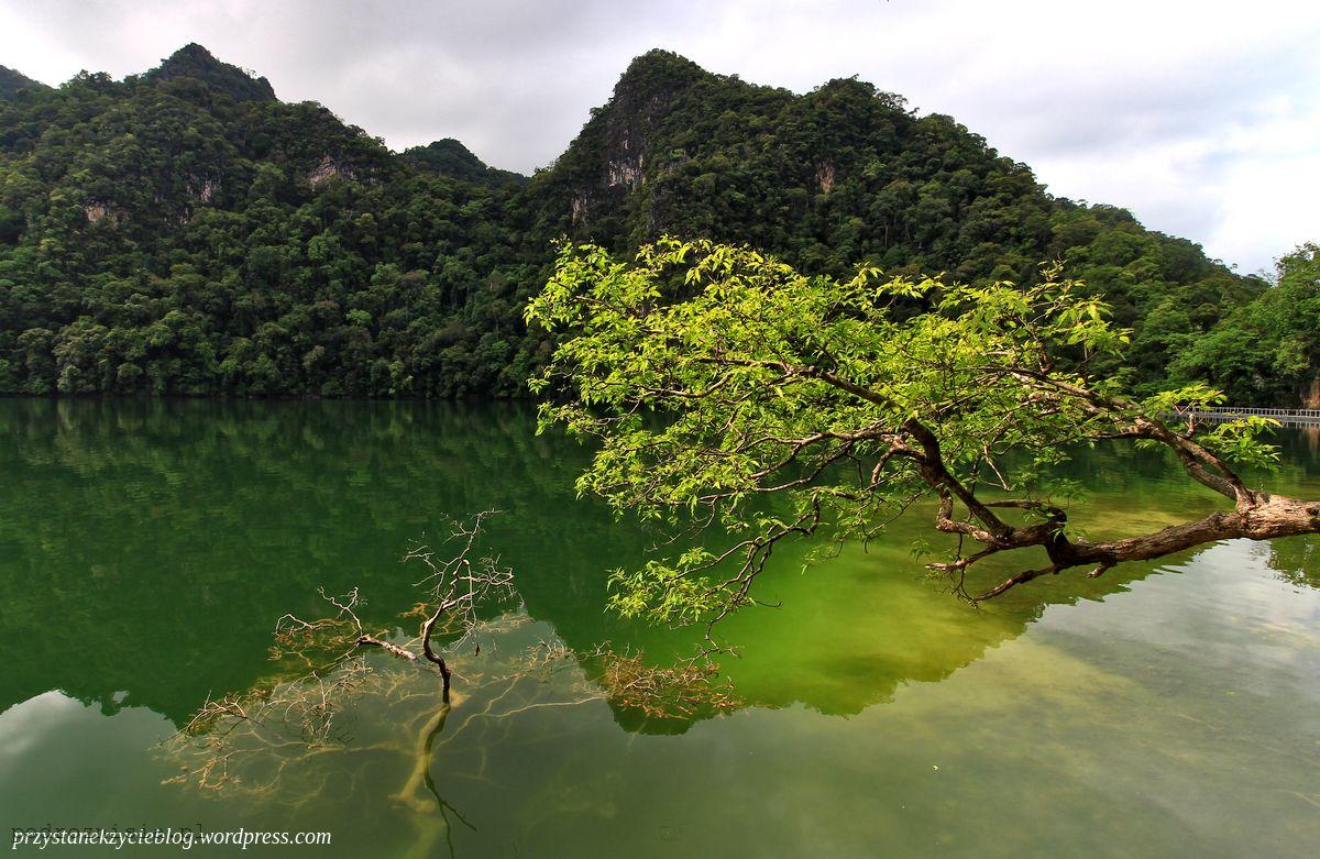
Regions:
<instances>
[{"instance_id":1,"label":"bare dead branches sticking up from the water, partly submerged","mask_svg":"<svg viewBox=\"0 0 1320 859\"><path fill-rule=\"evenodd\" d=\"M642 653L615 653L609 644L578 652L543 640L524 651L490 648L477 662L483 639L516 635L532 623L520 611L482 619L516 596L512 571L498 558L473 558L482 523L491 515L454 525L446 542L459 546L447 559L425 545L404 554L404 562L426 569L416 582L426 589L425 599L400 615L420 619L413 639L366 625L358 589L342 595L319 589L331 608L325 618L281 616L271 658L284 670L243 694L209 697L165 744L180 764L180 775L169 781L298 805L337 786L351 788L363 753L399 756L407 761L407 776L391 798L418 813L438 810L436 826L447 833L450 813L463 818L441 797L432 767L455 740L496 744L528 713L570 711L602 701L653 718L694 718L739 706L705 660L660 668L648 665ZM368 661L368 649L397 661ZM454 672L446 656L473 661ZM442 680L440 695L428 682L433 672ZM457 699L450 698L454 674L463 680ZM367 726L385 739L356 740L359 705L387 709Z\"/></svg>"}]
</instances>

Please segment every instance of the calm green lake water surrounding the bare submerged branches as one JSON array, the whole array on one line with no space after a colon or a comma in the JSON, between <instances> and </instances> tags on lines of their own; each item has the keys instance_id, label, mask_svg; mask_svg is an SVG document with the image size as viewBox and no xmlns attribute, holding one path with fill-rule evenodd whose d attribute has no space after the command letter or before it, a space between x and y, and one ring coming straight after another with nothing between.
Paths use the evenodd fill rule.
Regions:
<instances>
[{"instance_id":1,"label":"calm green lake water surrounding the bare submerged branches","mask_svg":"<svg viewBox=\"0 0 1320 859\"><path fill-rule=\"evenodd\" d=\"M1320 496L1316 435L1283 442L1272 484ZM723 628L746 706L656 722L576 662L482 680L539 640L657 660L694 640L602 612L607 570L655 534L577 500L582 462L521 406L0 400L0 833L334 837L244 855L1315 855L1320 542L1055 577L977 614L921 579L913 516L807 573L785 553L758 594L781 607ZM1073 476L1093 533L1214 507L1158 457L1092 453ZM523 607L455 657L442 726L433 677L372 657L400 685L323 753L272 752L292 763L268 789L162 784L161 740L269 677L281 614L359 586L389 623L416 598L411 541L484 508ZM400 796L420 740L432 788Z\"/></svg>"}]
</instances>

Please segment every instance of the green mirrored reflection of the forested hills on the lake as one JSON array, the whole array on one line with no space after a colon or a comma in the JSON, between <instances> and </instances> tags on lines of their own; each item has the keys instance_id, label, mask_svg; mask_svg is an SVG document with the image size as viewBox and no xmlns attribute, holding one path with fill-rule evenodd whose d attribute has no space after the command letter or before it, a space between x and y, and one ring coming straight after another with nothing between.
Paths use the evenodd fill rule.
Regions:
<instances>
[{"instance_id":1,"label":"green mirrored reflection of the forested hills on the lake","mask_svg":"<svg viewBox=\"0 0 1320 859\"><path fill-rule=\"evenodd\" d=\"M1272 480L1299 491L1320 447L1313 433L1288 443L1290 467ZM3 401L0 636L22 647L7 654L0 710L61 689L104 713L145 706L181 724L207 695L257 681L273 620L314 611L317 586L360 586L364 619L391 623L412 604L396 561L409 541L486 508L504 511L490 542L516 570L527 612L569 647L686 653L693 635L602 611L606 570L638 563L655 536L576 499L583 461L576 445L536 437L521 405ZM1089 492L1077 519L1096 532L1216 503L1159 457L1085 451L1072 474ZM1049 604L1101 598L1154 569L1057 577L977 615L920 578L908 544L928 532L909 517L869 553L807 573L784 553L759 594L784 607L725 628L744 654L727 664L741 694L855 714L902 684L948 677ZM1279 541L1270 563L1315 585L1315 548Z\"/></svg>"}]
</instances>

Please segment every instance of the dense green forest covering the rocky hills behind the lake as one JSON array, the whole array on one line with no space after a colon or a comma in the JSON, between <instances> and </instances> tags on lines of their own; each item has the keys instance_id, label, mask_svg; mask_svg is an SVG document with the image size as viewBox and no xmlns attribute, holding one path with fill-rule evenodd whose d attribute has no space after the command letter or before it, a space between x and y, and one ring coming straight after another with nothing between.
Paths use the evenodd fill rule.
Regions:
<instances>
[{"instance_id":1,"label":"dense green forest covering the rocky hills behind the lake","mask_svg":"<svg viewBox=\"0 0 1320 859\"><path fill-rule=\"evenodd\" d=\"M455 140L393 153L197 45L124 80L9 80L0 392L521 396L552 351L521 311L554 239L669 232L836 276L1028 282L1064 259L1134 329L1139 392L1316 393L1315 248L1278 286L1236 274L855 79L795 95L651 51L532 177Z\"/></svg>"}]
</instances>

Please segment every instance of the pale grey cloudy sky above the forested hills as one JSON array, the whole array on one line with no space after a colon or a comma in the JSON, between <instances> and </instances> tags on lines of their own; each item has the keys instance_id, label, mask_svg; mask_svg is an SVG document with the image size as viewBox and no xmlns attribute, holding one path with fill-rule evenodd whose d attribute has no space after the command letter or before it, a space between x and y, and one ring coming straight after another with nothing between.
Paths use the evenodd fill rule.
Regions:
<instances>
[{"instance_id":1,"label":"pale grey cloudy sky above the forested hills","mask_svg":"<svg viewBox=\"0 0 1320 859\"><path fill-rule=\"evenodd\" d=\"M189 41L396 149L520 172L651 48L793 91L858 75L1239 270L1320 240L1320 3L0 0L0 65L51 84Z\"/></svg>"}]
</instances>

